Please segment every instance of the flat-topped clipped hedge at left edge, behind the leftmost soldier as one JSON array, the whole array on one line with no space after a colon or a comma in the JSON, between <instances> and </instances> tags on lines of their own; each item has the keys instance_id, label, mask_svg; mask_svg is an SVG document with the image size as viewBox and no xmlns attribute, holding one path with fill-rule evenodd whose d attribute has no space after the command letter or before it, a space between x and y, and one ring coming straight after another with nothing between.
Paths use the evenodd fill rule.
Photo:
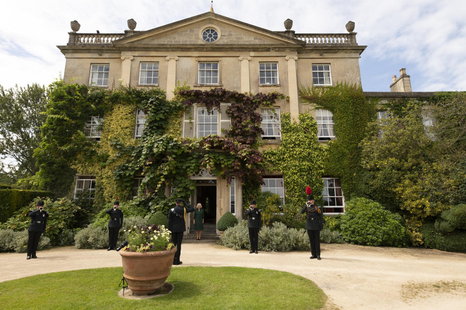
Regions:
<instances>
[{"instance_id":1,"label":"flat-topped clipped hedge at left edge, behind the leftmost soldier","mask_svg":"<svg viewBox=\"0 0 466 310\"><path fill-rule=\"evenodd\" d=\"M52 196L51 192L43 190L0 189L0 223L5 222L13 213L27 206L34 198Z\"/></svg>"}]
</instances>

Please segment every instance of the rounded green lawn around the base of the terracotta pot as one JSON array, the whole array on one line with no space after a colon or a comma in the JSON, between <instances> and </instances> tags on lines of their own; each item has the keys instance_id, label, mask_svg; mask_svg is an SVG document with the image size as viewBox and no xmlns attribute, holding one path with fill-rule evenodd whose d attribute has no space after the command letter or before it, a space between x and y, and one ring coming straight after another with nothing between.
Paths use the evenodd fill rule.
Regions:
<instances>
[{"instance_id":1,"label":"rounded green lawn around the base of the terracotta pot","mask_svg":"<svg viewBox=\"0 0 466 310\"><path fill-rule=\"evenodd\" d=\"M240 267L177 267L170 294L129 300L117 292L121 267L56 272L0 282L2 309L319 309L327 296L286 272Z\"/></svg>"}]
</instances>

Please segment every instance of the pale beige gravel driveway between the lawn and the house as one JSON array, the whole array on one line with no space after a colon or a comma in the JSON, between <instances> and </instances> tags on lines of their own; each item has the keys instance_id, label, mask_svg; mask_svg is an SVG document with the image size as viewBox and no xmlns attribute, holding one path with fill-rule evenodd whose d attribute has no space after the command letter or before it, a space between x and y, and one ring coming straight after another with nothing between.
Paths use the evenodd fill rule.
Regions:
<instances>
[{"instance_id":1,"label":"pale beige gravel driveway between the lawn and the house","mask_svg":"<svg viewBox=\"0 0 466 310\"><path fill-rule=\"evenodd\" d=\"M53 248L38 259L0 253L0 281L35 274L121 266L116 251ZM309 252L234 251L186 243L183 266L240 266L291 272L313 280L340 310L466 310L466 254L420 248L322 245L322 260ZM328 306L327 309L332 308Z\"/></svg>"}]
</instances>

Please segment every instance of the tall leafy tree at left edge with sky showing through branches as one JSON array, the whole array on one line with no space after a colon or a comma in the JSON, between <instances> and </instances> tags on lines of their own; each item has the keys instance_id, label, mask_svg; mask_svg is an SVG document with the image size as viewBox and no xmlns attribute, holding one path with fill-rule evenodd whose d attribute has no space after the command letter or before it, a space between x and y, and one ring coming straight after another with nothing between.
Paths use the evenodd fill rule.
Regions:
<instances>
[{"instance_id":1,"label":"tall leafy tree at left edge with sky showing through branches","mask_svg":"<svg viewBox=\"0 0 466 310\"><path fill-rule=\"evenodd\" d=\"M0 174L16 181L38 171L33 151L41 139L47 100L47 89L38 84L10 89L0 85L0 160L10 162L8 167L0 165Z\"/></svg>"}]
</instances>

